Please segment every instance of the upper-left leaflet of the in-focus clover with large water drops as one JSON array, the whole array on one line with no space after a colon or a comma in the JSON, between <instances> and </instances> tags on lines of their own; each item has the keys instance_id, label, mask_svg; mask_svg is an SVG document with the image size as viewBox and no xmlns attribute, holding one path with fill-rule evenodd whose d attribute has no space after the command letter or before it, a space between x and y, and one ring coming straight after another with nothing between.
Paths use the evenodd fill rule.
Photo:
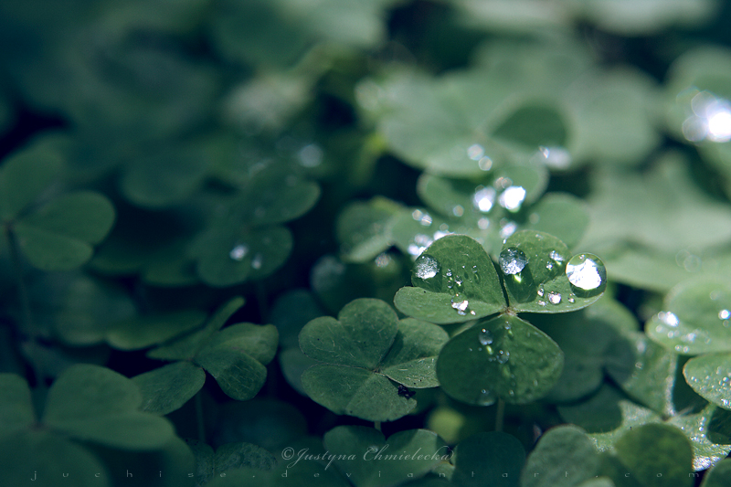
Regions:
<instances>
[{"instance_id":1,"label":"upper-left leaflet of the in-focus clover with large water drops","mask_svg":"<svg viewBox=\"0 0 731 487\"><path fill-rule=\"evenodd\" d=\"M501 311L503 289L482 245L464 235L436 240L394 298L398 311L431 323L462 323Z\"/></svg>"}]
</instances>

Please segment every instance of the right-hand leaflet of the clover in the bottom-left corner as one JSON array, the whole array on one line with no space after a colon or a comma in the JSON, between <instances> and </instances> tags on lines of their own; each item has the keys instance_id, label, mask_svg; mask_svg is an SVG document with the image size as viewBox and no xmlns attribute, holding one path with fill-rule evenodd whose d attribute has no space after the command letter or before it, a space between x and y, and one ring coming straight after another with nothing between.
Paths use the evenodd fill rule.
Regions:
<instances>
[{"instance_id":1,"label":"right-hand leaflet of the clover in the bottom-left corner","mask_svg":"<svg viewBox=\"0 0 731 487\"><path fill-rule=\"evenodd\" d=\"M73 365L48 391L43 423L72 437L127 450L154 450L175 430L164 418L139 412L140 390L116 372Z\"/></svg>"}]
</instances>

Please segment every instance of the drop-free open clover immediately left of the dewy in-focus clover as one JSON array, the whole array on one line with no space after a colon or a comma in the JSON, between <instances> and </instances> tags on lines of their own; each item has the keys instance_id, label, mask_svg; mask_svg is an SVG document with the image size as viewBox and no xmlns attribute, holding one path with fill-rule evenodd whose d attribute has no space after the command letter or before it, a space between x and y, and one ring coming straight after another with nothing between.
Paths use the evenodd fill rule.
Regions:
<instances>
[{"instance_id":1,"label":"drop-free open clover immediately left of the dewy in-focus clover","mask_svg":"<svg viewBox=\"0 0 731 487\"><path fill-rule=\"evenodd\" d=\"M431 323L399 322L386 302L355 300L337 320L323 316L302 328L302 352L322 362L304 371L302 387L336 414L371 421L401 418L416 400L400 387L439 385L434 363L447 338Z\"/></svg>"}]
</instances>

